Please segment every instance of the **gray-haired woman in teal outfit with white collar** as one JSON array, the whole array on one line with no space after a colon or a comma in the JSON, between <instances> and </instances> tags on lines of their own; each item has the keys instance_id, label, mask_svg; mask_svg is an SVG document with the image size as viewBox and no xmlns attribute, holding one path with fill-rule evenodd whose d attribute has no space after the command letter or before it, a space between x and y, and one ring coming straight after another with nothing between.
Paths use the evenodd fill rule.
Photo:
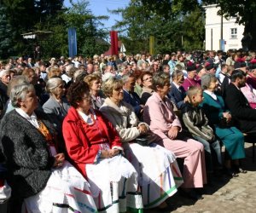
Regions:
<instances>
[{"instance_id":1,"label":"gray-haired woman in teal outfit with white collar","mask_svg":"<svg viewBox=\"0 0 256 213\"><path fill-rule=\"evenodd\" d=\"M244 138L240 130L232 124L232 116L226 110L222 96L215 92L218 88L217 78L207 73L201 77L201 88L203 89L203 102L201 107L207 114L209 124L215 134L224 143L225 152L225 173L228 176L236 177L237 173L245 173L239 165L238 159L245 158ZM231 168L231 161L233 169Z\"/></svg>"}]
</instances>

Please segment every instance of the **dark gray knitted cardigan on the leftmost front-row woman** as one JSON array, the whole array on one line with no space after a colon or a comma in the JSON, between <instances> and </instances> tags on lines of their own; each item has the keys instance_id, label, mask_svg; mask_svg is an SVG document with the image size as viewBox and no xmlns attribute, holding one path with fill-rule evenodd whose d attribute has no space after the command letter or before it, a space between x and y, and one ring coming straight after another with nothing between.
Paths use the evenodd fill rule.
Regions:
<instances>
[{"instance_id":1,"label":"dark gray knitted cardigan on the leftmost front-row woman","mask_svg":"<svg viewBox=\"0 0 256 213\"><path fill-rule=\"evenodd\" d=\"M55 134L47 115L44 112L36 114L50 133ZM43 190L55 162L44 135L13 110L1 121L0 146L10 174L12 196L24 199Z\"/></svg>"}]
</instances>

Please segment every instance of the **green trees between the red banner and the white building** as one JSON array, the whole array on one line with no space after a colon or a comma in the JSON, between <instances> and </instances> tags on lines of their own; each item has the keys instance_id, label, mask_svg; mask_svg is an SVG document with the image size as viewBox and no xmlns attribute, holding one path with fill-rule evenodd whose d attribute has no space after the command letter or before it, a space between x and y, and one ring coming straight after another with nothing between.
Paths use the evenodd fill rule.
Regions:
<instances>
[{"instance_id":1,"label":"green trees between the red banner and the white building","mask_svg":"<svg viewBox=\"0 0 256 213\"><path fill-rule=\"evenodd\" d=\"M125 9L113 10L113 14L122 14L123 20L114 27L119 32L126 32L121 39L129 44L125 45L127 52L148 52L149 36L155 37L156 53L181 48L202 49L205 33L203 11L197 3L193 7L182 7L180 2L184 3L133 0Z\"/></svg>"}]
</instances>

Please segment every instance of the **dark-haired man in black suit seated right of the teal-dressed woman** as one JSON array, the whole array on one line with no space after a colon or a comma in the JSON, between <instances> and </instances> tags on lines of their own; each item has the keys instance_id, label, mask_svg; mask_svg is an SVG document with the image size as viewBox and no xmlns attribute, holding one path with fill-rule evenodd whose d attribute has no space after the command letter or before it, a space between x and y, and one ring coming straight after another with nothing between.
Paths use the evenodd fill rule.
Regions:
<instances>
[{"instance_id":1,"label":"dark-haired man in black suit seated right of the teal-dressed woman","mask_svg":"<svg viewBox=\"0 0 256 213\"><path fill-rule=\"evenodd\" d=\"M251 108L240 88L245 86L246 76L241 70L235 70L226 90L225 103L235 118L239 130L256 133L256 110Z\"/></svg>"}]
</instances>

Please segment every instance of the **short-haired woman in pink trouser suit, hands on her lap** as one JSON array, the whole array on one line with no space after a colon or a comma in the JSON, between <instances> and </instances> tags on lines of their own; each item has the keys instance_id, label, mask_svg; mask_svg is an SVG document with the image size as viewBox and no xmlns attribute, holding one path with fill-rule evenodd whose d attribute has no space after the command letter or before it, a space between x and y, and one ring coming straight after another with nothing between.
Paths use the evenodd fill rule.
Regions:
<instances>
[{"instance_id":1,"label":"short-haired woman in pink trouser suit, hands on her lap","mask_svg":"<svg viewBox=\"0 0 256 213\"><path fill-rule=\"evenodd\" d=\"M179 119L173 112L172 101L166 97L170 88L170 78L166 73L154 75L154 93L145 105L144 122L162 138L161 146L171 150L177 158L184 158L183 193L191 199L203 199L194 188L207 183L204 147L183 135Z\"/></svg>"}]
</instances>

